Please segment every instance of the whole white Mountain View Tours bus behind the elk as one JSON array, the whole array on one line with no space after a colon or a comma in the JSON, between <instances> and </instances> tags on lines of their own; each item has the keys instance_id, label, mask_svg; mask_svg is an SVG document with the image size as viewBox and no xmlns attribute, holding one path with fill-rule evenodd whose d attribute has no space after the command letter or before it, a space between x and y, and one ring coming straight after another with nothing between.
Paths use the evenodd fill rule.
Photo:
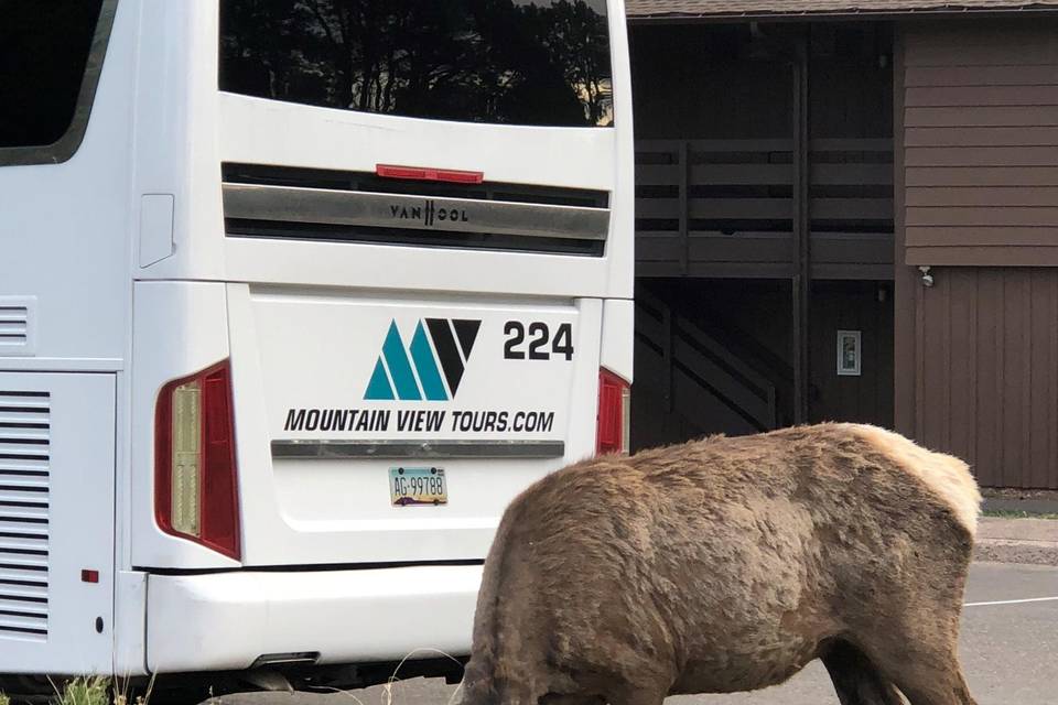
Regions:
<instances>
[{"instance_id":1,"label":"whole white Mountain View Tours bus behind the elk","mask_svg":"<svg viewBox=\"0 0 1058 705\"><path fill-rule=\"evenodd\" d=\"M622 0L14 0L0 47L0 688L444 673L505 506L627 444Z\"/></svg>"}]
</instances>

